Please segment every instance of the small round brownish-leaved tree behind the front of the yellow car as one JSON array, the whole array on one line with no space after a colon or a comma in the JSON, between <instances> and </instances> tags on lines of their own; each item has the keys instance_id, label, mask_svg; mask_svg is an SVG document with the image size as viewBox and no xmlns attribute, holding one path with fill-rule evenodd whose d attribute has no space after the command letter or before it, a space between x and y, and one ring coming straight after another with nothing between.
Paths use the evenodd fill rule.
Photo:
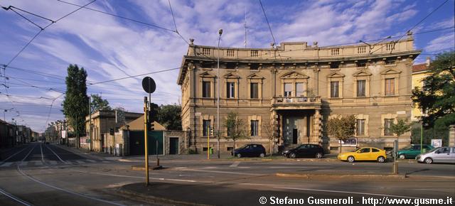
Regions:
<instances>
[{"instance_id":1,"label":"small round brownish-leaved tree behind the front of the yellow car","mask_svg":"<svg viewBox=\"0 0 455 206\"><path fill-rule=\"evenodd\" d=\"M336 116L328 119L327 131L329 135L333 135L338 139L339 152L341 153L341 141L346 141L355 134L355 116Z\"/></svg>"}]
</instances>

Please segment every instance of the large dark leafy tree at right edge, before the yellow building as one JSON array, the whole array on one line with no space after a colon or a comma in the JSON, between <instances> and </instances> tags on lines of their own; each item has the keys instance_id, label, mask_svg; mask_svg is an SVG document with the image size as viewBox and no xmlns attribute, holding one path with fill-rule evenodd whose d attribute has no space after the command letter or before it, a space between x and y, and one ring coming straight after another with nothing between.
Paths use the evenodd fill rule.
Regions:
<instances>
[{"instance_id":1,"label":"large dark leafy tree at right edge, before the yellow building","mask_svg":"<svg viewBox=\"0 0 455 206\"><path fill-rule=\"evenodd\" d=\"M437 55L429 67L431 75L412 90L412 102L427 114L421 118L426 128L455 124L455 52Z\"/></svg>"}]
</instances>

